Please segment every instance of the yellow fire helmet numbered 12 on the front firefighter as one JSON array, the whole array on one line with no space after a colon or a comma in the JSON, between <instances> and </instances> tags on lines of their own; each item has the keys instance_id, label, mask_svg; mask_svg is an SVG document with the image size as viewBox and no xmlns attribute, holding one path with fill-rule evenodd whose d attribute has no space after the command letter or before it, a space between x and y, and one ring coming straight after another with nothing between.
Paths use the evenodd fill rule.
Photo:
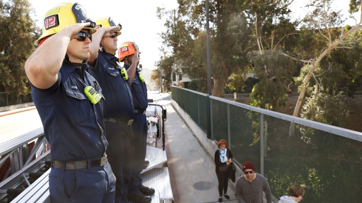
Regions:
<instances>
[{"instance_id":1,"label":"yellow fire helmet numbered 12 on the front firefighter","mask_svg":"<svg viewBox=\"0 0 362 203\"><path fill-rule=\"evenodd\" d=\"M88 27L84 27L84 29L89 30L90 34L97 31L96 23L87 17L87 12L83 6L79 3L60 3L45 13L42 35L37 40L37 44L43 38L58 33L65 26L84 22L90 22Z\"/></svg>"}]
</instances>

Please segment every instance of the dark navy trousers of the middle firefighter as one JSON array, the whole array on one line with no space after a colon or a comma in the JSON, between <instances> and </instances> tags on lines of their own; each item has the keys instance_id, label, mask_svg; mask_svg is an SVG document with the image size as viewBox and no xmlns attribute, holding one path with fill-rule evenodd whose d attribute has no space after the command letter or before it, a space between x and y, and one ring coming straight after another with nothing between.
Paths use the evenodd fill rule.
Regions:
<instances>
[{"instance_id":1,"label":"dark navy trousers of the middle firefighter","mask_svg":"<svg viewBox=\"0 0 362 203\"><path fill-rule=\"evenodd\" d=\"M127 191L132 176L134 135L132 126L104 122L109 144L108 161L116 177L115 203L128 203Z\"/></svg>"}]
</instances>

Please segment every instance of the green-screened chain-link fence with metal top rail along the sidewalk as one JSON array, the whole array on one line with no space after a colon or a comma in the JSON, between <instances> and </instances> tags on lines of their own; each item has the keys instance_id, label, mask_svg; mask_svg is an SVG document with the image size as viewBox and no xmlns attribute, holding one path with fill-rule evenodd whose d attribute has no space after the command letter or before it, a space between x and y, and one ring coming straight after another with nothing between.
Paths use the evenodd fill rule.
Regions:
<instances>
[{"instance_id":1,"label":"green-screened chain-link fence with metal top rail along the sidewalk","mask_svg":"<svg viewBox=\"0 0 362 203\"><path fill-rule=\"evenodd\" d=\"M172 99L210 138L228 142L239 167L252 161L273 196L299 183L305 202L359 202L362 133L174 86Z\"/></svg>"}]
</instances>

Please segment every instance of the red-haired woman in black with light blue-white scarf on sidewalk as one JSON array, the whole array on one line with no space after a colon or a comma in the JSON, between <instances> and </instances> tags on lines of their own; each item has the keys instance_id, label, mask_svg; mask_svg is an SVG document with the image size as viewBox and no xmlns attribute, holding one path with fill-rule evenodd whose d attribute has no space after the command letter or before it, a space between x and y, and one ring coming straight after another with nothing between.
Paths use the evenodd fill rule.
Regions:
<instances>
[{"instance_id":1,"label":"red-haired woman in black with light blue-white scarf on sidewalk","mask_svg":"<svg viewBox=\"0 0 362 203\"><path fill-rule=\"evenodd\" d=\"M218 143L219 149L215 151L215 170L216 176L219 181L219 202L223 201L222 193L224 190L224 197L230 199L230 196L226 194L228 181L229 181L229 170L231 169L230 163L232 159L231 150L226 148L227 143L221 139Z\"/></svg>"}]
</instances>

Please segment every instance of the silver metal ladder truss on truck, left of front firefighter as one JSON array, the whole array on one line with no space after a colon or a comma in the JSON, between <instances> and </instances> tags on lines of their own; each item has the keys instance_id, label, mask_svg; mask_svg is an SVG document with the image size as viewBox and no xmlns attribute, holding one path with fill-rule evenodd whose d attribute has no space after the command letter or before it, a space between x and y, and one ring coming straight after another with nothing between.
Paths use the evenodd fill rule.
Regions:
<instances>
[{"instance_id":1,"label":"silver metal ladder truss on truck, left of front firefighter","mask_svg":"<svg viewBox=\"0 0 362 203\"><path fill-rule=\"evenodd\" d=\"M11 199L30 186L50 160L50 145L43 128L1 143L0 156L0 168L5 170L0 182L0 200L7 195Z\"/></svg>"}]
</instances>

